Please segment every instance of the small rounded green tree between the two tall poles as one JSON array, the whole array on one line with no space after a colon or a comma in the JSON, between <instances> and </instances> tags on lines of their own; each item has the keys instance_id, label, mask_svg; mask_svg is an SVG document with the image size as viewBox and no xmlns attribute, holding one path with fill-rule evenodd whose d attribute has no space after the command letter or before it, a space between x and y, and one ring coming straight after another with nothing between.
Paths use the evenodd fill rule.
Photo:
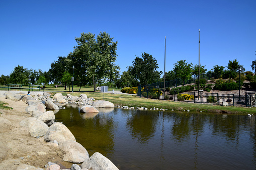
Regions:
<instances>
[{"instance_id":1,"label":"small rounded green tree between the two tall poles","mask_svg":"<svg viewBox=\"0 0 256 170\"><path fill-rule=\"evenodd\" d=\"M174 64L174 72L177 78L181 78L183 80L183 86L186 79L191 79L192 76L192 63L186 63L186 60L178 61L178 63Z\"/></svg>"}]
</instances>

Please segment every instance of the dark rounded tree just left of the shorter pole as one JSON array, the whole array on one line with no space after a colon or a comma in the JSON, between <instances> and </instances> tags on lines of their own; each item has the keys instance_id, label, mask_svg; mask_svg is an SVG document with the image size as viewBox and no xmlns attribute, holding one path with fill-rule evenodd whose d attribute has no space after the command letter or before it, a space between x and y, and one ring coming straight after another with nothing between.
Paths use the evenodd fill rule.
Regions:
<instances>
[{"instance_id":1,"label":"dark rounded tree just left of the shorter pole","mask_svg":"<svg viewBox=\"0 0 256 170\"><path fill-rule=\"evenodd\" d=\"M128 68L130 75L143 85L159 81L162 72L156 70L159 68L156 59L147 53L142 53L141 57L142 58L136 56L135 60L132 62L132 66Z\"/></svg>"}]
</instances>

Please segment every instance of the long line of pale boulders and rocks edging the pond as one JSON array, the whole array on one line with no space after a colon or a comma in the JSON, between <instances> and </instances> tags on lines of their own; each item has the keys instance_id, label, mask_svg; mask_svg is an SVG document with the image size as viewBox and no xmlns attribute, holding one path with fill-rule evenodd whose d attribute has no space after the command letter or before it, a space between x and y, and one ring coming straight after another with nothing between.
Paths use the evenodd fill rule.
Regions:
<instances>
[{"instance_id":1,"label":"long line of pale boulders and rocks edging the pond","mask_svg":"<svg viewBox=\"0 0 256 170\"><path fill-rule=\"evenodd\" d=\"M32 117L28 117L20 122L20 126L28 131L32 137L39 138L44 136L46 142L59 148L62 153L63 160L73 163L82 163L80 166L73 164L71 169L118 169L107 157L101 153L96 152L91 157L89 153L80 143L76 142L74 135L70 130L60 122L55 121L53 111L46 111L47 109L58 110L59 107L53 101L59 103L77 103L83 104L81 111L84 112L99 112L94 106L97 107L114 107L113 103L108 101L97 101L93 103L93 98L88 98L86 94L81 94L79 97L66 95L62 96L57 93L51 99L48 93L43 96L39 95L32 97L29 95L20 95L6 93L6 98L13 101L22 100L28 104L26 112L30 113ZM43 104L45 103L45 104ZM105 105L104 105L105 104ZM83 109L84 108L84 109ZM88 111L89 110L89 111ZM45 165L46 169L60 169L58 164L48 162ZM17 169L41 169L31 165L22 164Z\"/></svg>"}]
</instances>

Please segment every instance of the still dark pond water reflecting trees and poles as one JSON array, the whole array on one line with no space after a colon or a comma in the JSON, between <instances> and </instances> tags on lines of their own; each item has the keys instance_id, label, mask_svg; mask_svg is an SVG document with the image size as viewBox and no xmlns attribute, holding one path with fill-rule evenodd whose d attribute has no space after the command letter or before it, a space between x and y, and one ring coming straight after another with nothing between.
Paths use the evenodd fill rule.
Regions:
<instances>
[{"instance_id":1,"label":"still dark pond water reflecting trees and poles","mask_svg":"<svg viewBox=\"0 0 256 170\"><path fill-rule=\"evenodd\" d=\"M55 114L90 155L119 169L255 169L255 117L99 109L67 105Z\"/></svg>"}]
</instances>

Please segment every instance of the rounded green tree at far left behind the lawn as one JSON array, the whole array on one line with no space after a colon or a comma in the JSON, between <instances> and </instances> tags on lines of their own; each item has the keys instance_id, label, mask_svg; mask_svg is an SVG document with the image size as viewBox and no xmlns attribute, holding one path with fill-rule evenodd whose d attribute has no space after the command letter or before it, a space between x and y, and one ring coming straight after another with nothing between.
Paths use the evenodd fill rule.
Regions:
<instances>
[{"instance_id":1,"label":"rounded green tree at far left behind the lawn","mask_svg":"<svg viewBox=\"0 0 256 170\"><path fill-rule=\"evenodd\" d=\"M29 71L27 68L18 65L10 74L10 82L12 84L29 84Z\"/></svg>"}]
</instances>

